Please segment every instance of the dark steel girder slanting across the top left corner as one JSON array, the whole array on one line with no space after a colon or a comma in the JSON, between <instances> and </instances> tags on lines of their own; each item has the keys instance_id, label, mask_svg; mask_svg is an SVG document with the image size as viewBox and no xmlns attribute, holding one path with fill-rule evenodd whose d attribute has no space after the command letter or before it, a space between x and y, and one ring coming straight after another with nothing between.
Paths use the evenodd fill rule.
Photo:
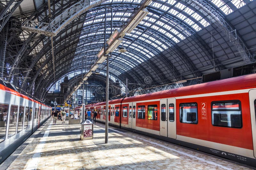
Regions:
<instances>
[{"instance_id":1,"label":"dark steel girder slanting across the top left corner","mask_svg":"<svg viewBox=\"0 0 256 170\"><path fill-rule=\"evenodd\" d=\"M10 0L4 9L0 12L0 32L4 28L6 22L12 16L12 13L16 10L16 8L20 5L22 0Z\"/></svg>"}]
</instances>

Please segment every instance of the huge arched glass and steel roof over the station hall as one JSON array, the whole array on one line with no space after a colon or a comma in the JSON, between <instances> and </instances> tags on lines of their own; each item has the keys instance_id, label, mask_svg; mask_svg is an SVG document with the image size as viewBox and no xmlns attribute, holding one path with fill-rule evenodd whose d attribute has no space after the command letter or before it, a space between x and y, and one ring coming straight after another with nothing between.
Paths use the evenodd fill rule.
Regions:
<instances>
[{"instance_id":1,"label":"huge arched glass and steel roof over the station hall","mask_svg":"<svg viewBox=\"0 0 256 170\"><path fill-rule=\"evenodd\" d=\"M70 2L52 2L52 17L67 9ZM22 68L21 71L27 69L25 74L19 76L31 79L14 83L18 86L21 84L20 88L28 93L33 94L34 91L36 95L44 96L49 86L63 75L81 70L83 57L84 65L87 58L86 67L90 68L104 45L105 6L113 9L114 31L122 29L143 2L108 0L83 13L61 30L53 38L56 80L53 76L51 38L22 31L18 36L22 42L11 42L10 48L6 48L10 61L5 66L12 67L14 64ZM49 13L48 9L47 3L23 0L12 16L20 18L22 22L28 18L47 22L45 14ZM255 10L255 0L153 0L147 10L148 15L124 36L123 43L118 46L124 46L127 52L120 53L117 47L110 58L109 70L120 80L129 77L134 83L143 83L143 78L148 76L158 85L200 77L215 68L221 70L237 63L243 64L248 53L247 59L255 53L253 25L256 19L255 13L251 12ZM24 14L22 11L29 12ZM110 9L107 9L107 39L111 34L110 19ZM236 32L239 44L245 47L247 54L242 54L237 44L230 40L226 32L228 30L230 33L232 29L231 34ZM11 52L10 49L15 49L11 44L19 44L20 47L22 44L22 48L17 45L17 51ZM20 54L22 57L18 57ZM6 70L8 74L8 68ZM97 71L105 72L106 62L100 64ZM10 74L10 77L16 75L13 70Z\"/></svg>"}]
</instances>

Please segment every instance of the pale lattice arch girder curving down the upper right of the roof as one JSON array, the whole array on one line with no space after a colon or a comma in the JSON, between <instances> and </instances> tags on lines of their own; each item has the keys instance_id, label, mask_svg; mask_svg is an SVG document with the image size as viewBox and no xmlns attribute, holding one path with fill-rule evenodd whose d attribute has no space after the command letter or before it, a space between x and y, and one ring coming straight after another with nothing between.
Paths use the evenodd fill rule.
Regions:
<instances>
[{"instance_id":1,"label":"pale lattice arch girder curving down the upper right of the roof","mask_svg":"<svg viewBox=\"0 0 256 170\"><path fill-rule=\"evenodd\" d=\"M236 30L234 30L225 21L223 15L216 10L211 4L206 3L204 0L182 0L185 3L191 5L196 10L204 14L210 21L212 21L230 40L234 45L238 53L240 53L245 63L251 63L254 59L246 47L243 40L240 38Z\"/></svg>"}]
</instances>

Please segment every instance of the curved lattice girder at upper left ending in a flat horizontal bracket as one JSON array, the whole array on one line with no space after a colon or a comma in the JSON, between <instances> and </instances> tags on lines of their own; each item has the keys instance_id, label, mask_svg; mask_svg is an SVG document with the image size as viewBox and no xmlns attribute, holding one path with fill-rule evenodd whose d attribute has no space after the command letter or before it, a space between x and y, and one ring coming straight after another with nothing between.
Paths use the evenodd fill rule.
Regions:
<instances>
[{"instance_id":1,"label":"curved lattice girder at upper left ending in a flat horizontal bracket","mask_svg":"<svg viewBox=\"0 0 256 170\"><path fill-rule=\"evenodd\" d=\"M90 3L90 0L80 0L76 4L70 6L63 11L59 16L56 16L50 23L36 22L33 20L27 20L22 29L30 32L36 32L44 34L46 36L56 36L65 26L70 24L76 18L79 18L86 11L91 8L100 5L106 0L97 0Z\"/></svg>"}]
</instances>

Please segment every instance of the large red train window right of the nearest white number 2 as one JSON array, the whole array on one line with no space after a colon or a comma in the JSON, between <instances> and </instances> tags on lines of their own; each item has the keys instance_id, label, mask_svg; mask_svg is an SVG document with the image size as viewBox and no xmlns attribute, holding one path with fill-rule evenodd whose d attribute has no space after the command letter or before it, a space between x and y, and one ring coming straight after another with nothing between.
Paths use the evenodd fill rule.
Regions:
<instances>
[{"instance_id":1,"label":"large red train window right of the nearest white number 2","mask_svg":"<svg viewBox=\"0 0 256 170\"><path fill-rule=\"evenodd\" d=\"M212 125L242 128L240 101L212 102Z\"/></svg>"}]
</instances>

